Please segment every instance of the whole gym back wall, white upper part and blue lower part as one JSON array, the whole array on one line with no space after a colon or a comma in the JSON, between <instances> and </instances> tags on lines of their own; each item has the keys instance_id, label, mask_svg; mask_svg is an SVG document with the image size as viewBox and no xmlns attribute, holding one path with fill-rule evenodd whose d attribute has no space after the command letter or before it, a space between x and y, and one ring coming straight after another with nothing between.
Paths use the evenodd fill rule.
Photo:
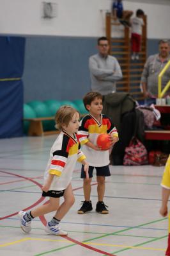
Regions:
<instances>
[{"instance_id":1,"label":"whole gym back wall, white upper part and blue lower part","mask_svg":"<svg viewBox=\"0 0 170 256\"><path fill-rule=\"evenodd\" d=\"M0 3L1 35L26 38L24 102L81 98L90 89L88 58L97 52L97 38L105 35L105 12L111 11L112 1L55 0L53 19L43 19L42 2ZM123 1L125 9L142 8L148 17L148 55L170 34L170 5L157 2Z\"/></svg>"}]
</instances>

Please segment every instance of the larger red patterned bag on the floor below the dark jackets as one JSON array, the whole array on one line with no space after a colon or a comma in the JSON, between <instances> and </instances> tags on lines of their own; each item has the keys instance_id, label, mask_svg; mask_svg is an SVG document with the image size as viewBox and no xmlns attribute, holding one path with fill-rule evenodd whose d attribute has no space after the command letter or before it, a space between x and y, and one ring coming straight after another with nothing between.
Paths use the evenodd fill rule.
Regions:
<instances>
[{"instance_id":1,"label":"larger red patterned bag on the floor below the dark jackets","mask_svg":"<svg viewBox=\"0 0 170 256\"><path fill-rule=\"evenodd\" d=\"M143 164L148 164L148 152L142 142L133 137L129 146L125 148L123 165L141 166Z\"/></svg>"}]
</instances>

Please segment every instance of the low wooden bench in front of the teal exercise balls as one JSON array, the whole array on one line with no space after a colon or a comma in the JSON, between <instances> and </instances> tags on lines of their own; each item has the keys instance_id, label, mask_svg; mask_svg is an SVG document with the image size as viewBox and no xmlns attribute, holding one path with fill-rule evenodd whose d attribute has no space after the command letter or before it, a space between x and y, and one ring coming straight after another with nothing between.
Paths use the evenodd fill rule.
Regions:
<instances>
[{"instance_id":1,"label":"low wooden bench in front of the teal exercise balls","mask_svg":"<svg viewBox=\"0 0 170 256\"><path fill-rule=\"evenodd\" d=\"M54 117L36 117L36 118L24 118L24 121L29 121L29 136L42 136L42 135L51 135L55 133L59 133L58 130L54 131L43 131L42 121L50 121L54 120Z\"/></svg>"}]
</instances>

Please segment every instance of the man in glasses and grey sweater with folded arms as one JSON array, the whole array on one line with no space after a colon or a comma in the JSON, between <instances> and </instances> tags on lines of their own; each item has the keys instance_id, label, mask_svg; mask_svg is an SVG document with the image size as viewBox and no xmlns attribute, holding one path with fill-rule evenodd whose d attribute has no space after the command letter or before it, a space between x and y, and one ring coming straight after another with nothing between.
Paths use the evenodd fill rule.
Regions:
<instances>
[{"instance_id":1,"label":"man in glasses and grey sweater with folded arms","mask_svg":"<svg viewBox=\"0 0 170 256\"><path fill-rule=\"evenodd\" d=\"M109 52L109 42L106 37L98 38L98 54L89 57L91 90L106 95L116 92L116 81L122 78L118 60Z\"/></svg>"}]
</instances>

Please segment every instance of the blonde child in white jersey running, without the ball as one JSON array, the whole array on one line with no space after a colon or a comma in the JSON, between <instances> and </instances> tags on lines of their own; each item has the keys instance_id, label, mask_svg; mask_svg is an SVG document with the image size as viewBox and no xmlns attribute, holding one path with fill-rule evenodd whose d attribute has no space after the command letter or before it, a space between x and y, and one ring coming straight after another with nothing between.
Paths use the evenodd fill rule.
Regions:
<instances>
[{"instance_id":1,"label":"blonde child in white jersey running, without the ball","mask_svg":"<svg viewBox=\"0 0 170 256\"><path fill-rule=\"evenodd\" d=\"M32 219L56 210L54 217L47 222L45 232L53 235L67 235L67 232L59 227L59 222L75 201L71 178L77 160L84 165L84 172L88 178L88 163L81 151L76 134L79 129L79 113L70 106L63 106L56 113L55 121L61 132L50 149L42 186L42 196L49 196L49 201L30 212L19 212L20 227L26 233L31 231ZM64 201L59 205L61 196Z\"/></svg>"}]
</instances>

